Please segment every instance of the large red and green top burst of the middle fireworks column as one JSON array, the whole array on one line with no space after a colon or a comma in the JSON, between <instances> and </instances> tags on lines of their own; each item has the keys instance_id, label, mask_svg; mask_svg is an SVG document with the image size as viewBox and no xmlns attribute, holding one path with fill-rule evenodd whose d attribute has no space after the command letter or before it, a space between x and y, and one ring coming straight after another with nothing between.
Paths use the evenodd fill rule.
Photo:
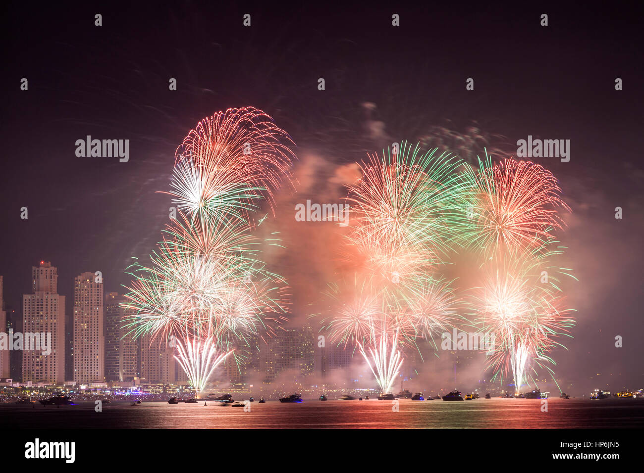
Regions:
<instances>
[{"instance_id":1,"label":"large red and green top burst of the middle fireworks column","mask_svg":"<svg viewBox=\"0 0 644 473\"><path fill-rule=\"evenodd\" d=\"M466 223L469 202L460 190L469 182L457 172L460 165L448 153L421 153L406 142L382 157L370 155L359 165L362 178L348 186L354 222L348 259L403 283L435 269Z\"/></svg>"}]
</instances>

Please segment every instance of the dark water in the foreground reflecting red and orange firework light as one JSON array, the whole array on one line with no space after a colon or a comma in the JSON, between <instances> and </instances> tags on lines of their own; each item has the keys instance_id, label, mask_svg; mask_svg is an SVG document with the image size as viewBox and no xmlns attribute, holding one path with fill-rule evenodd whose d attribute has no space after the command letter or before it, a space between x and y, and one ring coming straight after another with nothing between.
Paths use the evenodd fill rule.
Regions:
<instances>
[{"instance_id":1,"label":"dark water in the foreground reflecting red and orange firework light","mask_svg":"<svg viewBox=\"0 0 644 473\"><path fill-rule=\"evenodd\" d=\"M615 429L644 427L643 399L479 399L463 402L305 400L269 401L241 407L114 402L95 412L94 404L60 408L0 406L3 429Z\"/></svg>"}]
</instances>

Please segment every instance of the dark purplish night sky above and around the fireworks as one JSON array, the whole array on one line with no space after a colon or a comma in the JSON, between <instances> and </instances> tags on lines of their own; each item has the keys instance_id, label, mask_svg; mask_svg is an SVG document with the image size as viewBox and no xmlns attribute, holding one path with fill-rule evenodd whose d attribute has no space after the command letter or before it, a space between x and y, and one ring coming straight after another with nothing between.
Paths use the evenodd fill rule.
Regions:
<instances>
[{"instance_id":1,"label":"dark purplish night sky above and around the fireworks","mask_svg":"<svg viewBox=\"0 0 644 473\"><path fill-rule=\"evenodd\" d=\"M68 310L81 272L102 271L106 290L128 283L129 258L149 254L167 221L169 198L155 191L167 190L177 145L216 111L263 109L300 158L319 156L326 176L435 125L464 133L477 124L511 147L529 134L571 140L569 163L540 162L573 209L561 239L580 279L567 288L578 325L569 351L555 355L556 372L583 389L644 387L639 12L628 3L574 11L204 4L2 6L7 304L21 310L30 268L43 259L59 268ZM97 13L103 26L94 26ZM171 77L177 91L168 90ZM469 77L474 91L466 91ZM77 158L75 141L88 134L129 139L129 162ZM294 293L297 301L296 284ZM615 335L624 348L614 348Z\"/></svg>"}]
</instances>

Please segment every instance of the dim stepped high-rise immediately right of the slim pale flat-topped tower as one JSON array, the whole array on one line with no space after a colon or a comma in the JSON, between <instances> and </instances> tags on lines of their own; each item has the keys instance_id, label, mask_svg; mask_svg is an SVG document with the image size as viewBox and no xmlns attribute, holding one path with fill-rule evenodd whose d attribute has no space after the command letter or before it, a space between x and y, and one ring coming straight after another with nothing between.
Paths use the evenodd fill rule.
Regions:
<instances>
[{"instance_id":1,"label":"dim stepped high-rise immediately right of the slim pale flat-topped tower","mask_svg":"<svg viewBox=\"0 0 644 473\"><path fill-rule=\"evenodd\" d=\"M138 340L131 329L124 328L124 317L134 310L123 308L126 298L110 292L105 298L105 380L126 381L139 376Z\"/></svg>"}]
</instances>

